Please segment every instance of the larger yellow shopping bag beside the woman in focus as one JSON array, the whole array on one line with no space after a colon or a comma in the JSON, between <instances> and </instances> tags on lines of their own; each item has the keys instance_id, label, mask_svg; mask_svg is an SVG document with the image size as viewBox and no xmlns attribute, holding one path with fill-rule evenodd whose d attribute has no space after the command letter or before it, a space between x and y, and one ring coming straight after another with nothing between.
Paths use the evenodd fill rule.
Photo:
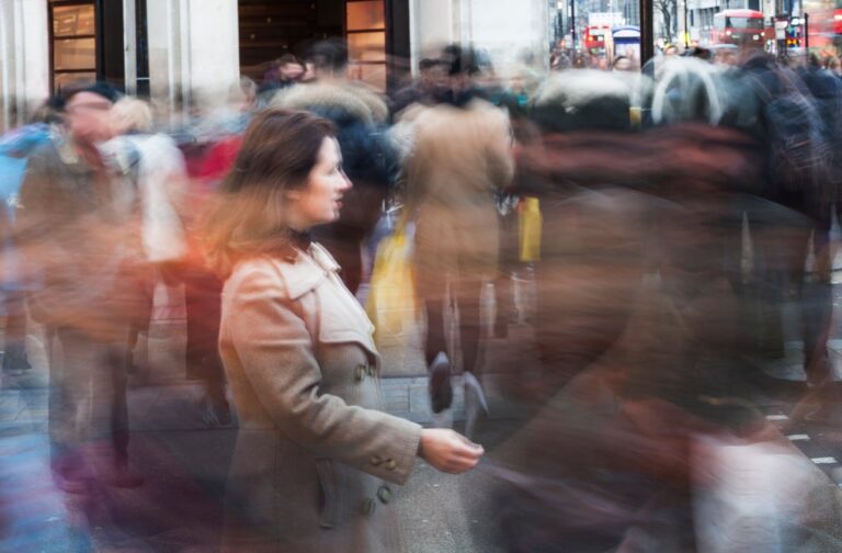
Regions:
<instances>
[{"instance_id":1,"label":"larger yellow shopping bag beside the woman in focus","mask_svg":"<svg viewBox=\"0 0 842 553\"><path fill-rule=\"evenodd\" d=\"M401 221L377 247L365 311L377 340L405 337L417 323L418 300L412 270L412 238Z\"/></svg>"}]
</instances>

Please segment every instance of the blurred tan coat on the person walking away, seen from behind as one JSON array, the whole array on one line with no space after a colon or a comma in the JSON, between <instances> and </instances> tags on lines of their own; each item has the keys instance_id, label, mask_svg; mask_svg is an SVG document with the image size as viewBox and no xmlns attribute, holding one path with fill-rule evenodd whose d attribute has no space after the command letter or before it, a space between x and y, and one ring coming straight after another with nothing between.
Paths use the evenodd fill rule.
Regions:
<instances>
[{"instance_id":1,"label":"blurred tan coat on the person walking away, seen from behind","mask_svg":"<svg viewBox=\"0 0 842 553\"><path fill-rule=\"evenodd\" d=\"M411 109L405 161L407 208L416 219L416 278L421 297L446 283L493 278L500 249L494 193L511 183L509 117L475 99Z\"/></svg>"}]
</instances>

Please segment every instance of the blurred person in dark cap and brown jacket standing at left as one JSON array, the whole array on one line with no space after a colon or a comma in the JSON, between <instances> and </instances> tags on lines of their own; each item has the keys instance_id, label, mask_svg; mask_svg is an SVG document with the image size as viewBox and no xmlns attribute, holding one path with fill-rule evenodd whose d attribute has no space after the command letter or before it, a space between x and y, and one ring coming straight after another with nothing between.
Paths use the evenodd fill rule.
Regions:
<instances>
[{"instance_id":1,"label":"blurred person in dark cap and brown jacket standing at left","mask_svg":"<svg viewBox=\"0 0 842 553\"><path fill-rule=\"evenodd\" d=\"M126 404L129 325L144 305L127 285L145 269L137 194L99 150L116 100L102 83L66 95L65 134L32 155L15 233L44 278L31 313L60 347L49 348L49 435L54 477L68 493L89 490L96 476L143 482L128 469Z\"/></svg>"}]
</instances>

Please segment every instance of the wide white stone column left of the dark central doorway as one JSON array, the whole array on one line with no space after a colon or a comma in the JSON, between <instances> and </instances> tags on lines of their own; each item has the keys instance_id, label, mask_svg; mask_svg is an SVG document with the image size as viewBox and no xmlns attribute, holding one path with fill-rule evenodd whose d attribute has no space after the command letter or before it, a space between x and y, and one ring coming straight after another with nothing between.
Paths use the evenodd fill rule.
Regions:
<instances>
[{"instance_id":1,"label":"wide white stone column left of the dark central doorway","mask_svg":"<svg viewBox=\"0 0 842 553\"><path fill-rule=\"evenodd\" d=\"M173 111L226 101L239 80L237 0L147 0L149 87Z\"/></svg>"}]
</instances>

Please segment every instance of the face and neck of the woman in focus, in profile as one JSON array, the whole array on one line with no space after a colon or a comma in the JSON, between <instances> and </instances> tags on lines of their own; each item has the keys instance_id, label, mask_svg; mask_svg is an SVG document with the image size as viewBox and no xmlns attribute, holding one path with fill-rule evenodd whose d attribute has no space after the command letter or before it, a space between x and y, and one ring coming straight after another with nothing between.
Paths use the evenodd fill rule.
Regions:
<instances>
[{"instance_id":1,"label":"face and neck of the woman in focus, in profile","mask_svg":"<svg viewBox=\"0 0 842 553\"><path fill-rule=\"evenodd\" d=\"M307 185L287 192L289 226L304 230L339 218L342 196L351 188L342 170L342 155L335 138L326 137Z\"/></svg>"}]
</instances>

